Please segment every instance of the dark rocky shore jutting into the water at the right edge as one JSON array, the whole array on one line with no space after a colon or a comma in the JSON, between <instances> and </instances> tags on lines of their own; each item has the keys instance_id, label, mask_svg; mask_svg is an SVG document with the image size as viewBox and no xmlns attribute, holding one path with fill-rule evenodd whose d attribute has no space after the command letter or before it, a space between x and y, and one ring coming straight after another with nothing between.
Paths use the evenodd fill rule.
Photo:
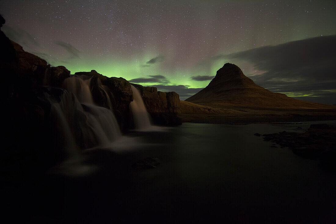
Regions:
<instances>
[{"instance_id":1,"label":"dark rocky shore jutting into the water at the right edge","mask_svg":"<svg viewBox=\"0 0 336 224\"><path fill-rule=\"evenodd\" d=\"M264 141L290 148L294 153L320 159L324 166L336 170L336 128L327 124L312 124L304 133L279 132L263 135Z\"/></svg>"}]
</instances>

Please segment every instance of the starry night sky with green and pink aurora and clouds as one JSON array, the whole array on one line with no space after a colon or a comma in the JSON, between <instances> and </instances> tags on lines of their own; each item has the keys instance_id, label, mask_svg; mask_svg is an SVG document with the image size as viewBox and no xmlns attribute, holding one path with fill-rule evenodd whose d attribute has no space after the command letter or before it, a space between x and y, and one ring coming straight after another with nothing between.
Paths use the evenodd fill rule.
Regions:
<instances>
[{"instance_id":1,"label":"starry night sky with green and pink aurora and clouds","mask_svg":"<svg viewBox=\"0 0 336 224\"><path fill-rule=\"evenodd\" d=\"M11 40L72 74L183 100L230 62L271 91L336 104L334 0L3 0L0 13Z\"/></svg>"}]
</instances>

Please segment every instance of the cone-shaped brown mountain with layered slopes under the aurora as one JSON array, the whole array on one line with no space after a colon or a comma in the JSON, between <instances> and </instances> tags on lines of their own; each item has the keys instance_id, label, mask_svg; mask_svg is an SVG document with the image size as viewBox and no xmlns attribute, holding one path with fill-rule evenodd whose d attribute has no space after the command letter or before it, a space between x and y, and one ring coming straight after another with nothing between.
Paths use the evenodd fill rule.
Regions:
<instances>
[{"instance_id":1,"label":"cone-shaped brown mountain with layered slopes under the aurora","mask_svg":"<svg viewBox=\"0 0 336 224\"><path fill-rule=\"evenodd\" d=\"M242 70L230 63L220 68L207 87L185 101L211 107L261 107L335 109L334 106L311 103L274 93L256 85Z\"/></svg>"}]
</instances>

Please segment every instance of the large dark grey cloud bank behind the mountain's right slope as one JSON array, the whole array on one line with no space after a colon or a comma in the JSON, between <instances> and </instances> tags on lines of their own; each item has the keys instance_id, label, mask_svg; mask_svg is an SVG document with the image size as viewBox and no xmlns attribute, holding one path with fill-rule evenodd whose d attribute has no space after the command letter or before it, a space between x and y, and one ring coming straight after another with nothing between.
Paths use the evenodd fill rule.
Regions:
<instances>
[{"instance_id":1,"label":"large dark grey cloud bank behind the mountain's right slope","mask_svg":"<svg viewBox=\"0 0 336 224\"><path fill-rule=\"evenodd\" d=\"M335 104L336 92L326 92L336 89L335 43L336 35L321 36L221 56L230 61L247 61L253 69L262 71L253 75L253 80L270 91Z\"/></svg>"}]
</instances>

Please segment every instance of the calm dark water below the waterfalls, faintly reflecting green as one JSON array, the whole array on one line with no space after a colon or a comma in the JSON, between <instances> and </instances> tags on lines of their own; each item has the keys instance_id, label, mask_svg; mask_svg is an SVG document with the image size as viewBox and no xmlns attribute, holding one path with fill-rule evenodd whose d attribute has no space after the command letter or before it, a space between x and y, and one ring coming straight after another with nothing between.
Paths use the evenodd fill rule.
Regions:
<instances>
[{"instance_id":1,"label":"calm dark water below the waterfalls, faintly reflecting green","mask_svg":"<svg viewBox=\"0 0 336 224\"><path fill-rule=\"evenodd\" d=\"M41 203L53 207L41 213L56 222L333 223L335 175L317 160L271 148L273 143L253 135L302 132L311 123L321 121L183 123L161 132L130 133L113 150L86 152L87 163L98 167L95 174L48 177L41 186L48 190L41 194L50 200ZM161 164L131 169L145 157L157 157Z\"/></svg>"}]
</instances>

